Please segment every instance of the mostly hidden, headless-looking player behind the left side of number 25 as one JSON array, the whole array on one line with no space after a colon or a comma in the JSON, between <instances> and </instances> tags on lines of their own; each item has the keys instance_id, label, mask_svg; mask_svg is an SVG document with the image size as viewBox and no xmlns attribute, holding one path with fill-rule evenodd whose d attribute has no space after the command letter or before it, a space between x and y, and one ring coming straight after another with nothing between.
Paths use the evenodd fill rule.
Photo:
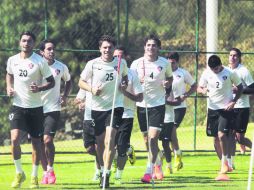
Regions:
<instances>
[{"instance_id":1,"label":"mostly hidden, headless-looking player behind the left side of number 25","mask_svg":"<svg viewBox=\"0 0 254 190\"><path fill-rule=\"evenodd\" d=\"M79 110L85 110L83 121L83 142L87 153L95 156L95 174L93 180L97 181L100 178L101 168L96 154L97 144L94 133L94 122L91 116L91 98L92 94L90 92L80 89L74 102L75 104L78 104Z\"/></svg>"}]
</instances>

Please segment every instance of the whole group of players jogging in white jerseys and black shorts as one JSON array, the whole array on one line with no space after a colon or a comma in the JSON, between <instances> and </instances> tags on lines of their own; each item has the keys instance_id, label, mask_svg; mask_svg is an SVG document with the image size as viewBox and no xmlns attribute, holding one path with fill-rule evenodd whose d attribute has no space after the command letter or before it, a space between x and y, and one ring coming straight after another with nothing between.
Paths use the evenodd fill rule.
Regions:
<instances>
[{"instance_id":1,"label":"whole group of players jogging in white jerseys and black shorts","mask_svg":"<svg viewBox=\"0 0 254 190\"><path fill-rule=\"evenodd\" d=\"M35 39L32 32L23 32L21 52L7 62L7 94L13 96L9 114L11 151L16 168L13 188L20 187L26 179L20 147L26 133L31 136L33 148L31 188L39 187L40 160L44 171L41 183L55 183L53 139L61 105L66 104L72 85L68 68L54 57L54 42L41 42L38 55L33 52ZM136 109L148 152L141 181L150 183L163 179L162 157L167 162L166 172L173 173L170 142L174 149L175 171L183 167L176 129L186 113L186 98L196 90L208 95L207 135L215 139L215 150L222 163L220 173L232 171L235 137L239 143L252 146L244 134L249 119L248 94L254 92L254 82L241 64L240 50L231 49L229 68L222 65L218 56L212 55L208 60L209 68L197 87L189 72L179 67L178 53L169 53L166 58L159 56L161 41L156 35L145 38L144 56L134 60L130 68L124 59L125 49L115 46L111 36L100 38L101 55L86 64L75 99L75 103L85 109L84 146L89 154L95 155L95 178L100 187L110 185L114 158L118 183L121 183L127 155L135 162L130 136ZM60 94L61 80L65 82L63 95ZM162 141L163 151L159 150L158 140Z\"/></svg>"}]
</instances>

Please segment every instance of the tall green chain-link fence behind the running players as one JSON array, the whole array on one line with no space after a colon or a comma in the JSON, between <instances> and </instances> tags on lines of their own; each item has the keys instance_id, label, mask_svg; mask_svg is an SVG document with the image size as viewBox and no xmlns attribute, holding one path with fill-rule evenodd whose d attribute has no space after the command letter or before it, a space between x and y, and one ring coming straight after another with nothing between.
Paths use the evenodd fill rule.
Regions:
<instances>
[{"instance_id":1,"label":"tall green chain-link fence behind the running players","mask_svg":"<svg viewBox=\"0 0 254 190\"><path fill-rule=\"evenodd\" d=\"M221 0L218 3L218 52L213 53L218 53L227 65L228 50L231 47L241 49L243 63L253 74L254 1ZM179 52L180 65L197 82L206 67L205 0L2 0L0 10L0 153L10 150L8 109L11 99L5 96L5 63L9 56L18 52L22 31L33 31L37 43L45 38L57 42L57 59L66 63L72 74L72 96L68 107L63 108L56 135L59 152L84 151L81 140L83 114L72 101L86 62L99 55L101 35L114 36L118 44L127 48L133 60L143 55L145 36L156 33L162 41L161 54ZM208 144L204 143L207 140L204 137L206 99L193 95L187 103L187 114L178 136L180 144L184 141L188 146L181 148L212 150L212 146L204 145ZM137 123L135 132L139 132Z\"/></svg>"}]
</instances>

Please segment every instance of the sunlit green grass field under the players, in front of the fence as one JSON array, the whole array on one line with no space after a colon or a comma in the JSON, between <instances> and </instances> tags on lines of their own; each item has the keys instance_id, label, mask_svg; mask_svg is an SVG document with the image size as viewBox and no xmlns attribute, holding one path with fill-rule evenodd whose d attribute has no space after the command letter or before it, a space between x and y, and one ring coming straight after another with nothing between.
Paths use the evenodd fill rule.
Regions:
<instances>
[{"instance_id":1,"label":"sunlit green grass field under the players, in front of the fence","mask_svg":"<svg viewBox=\"0 0 254 190\"><path fill-rule=\"evenodd\" d=\"M11 189L10 184L15 174L10 155L0 156L0 189ZM155 182L155 189L183 190L240 190L247 188L250 154L237 155L236 170L229 174L229 182L217 182L220 162L214 153L185 153L184 168L171 176L165 176L163 181ZM23 169L27 180L22 189L29 188L31 173L31 156L23 155ZM152 189L151 184L142 184L140 177L145 170L146 155L137 153L134 166L127 163L121 185L114 184L114 174L111 176L112 189ZM93 157L88 154L57 154L55 159L57 175L56 185L41 185L40 189L99 189L98 182L92 181L94 174ZM39 171L40 177L42 170ZM252 184L254 185L254 184Z\"/></svg>"}]
</instances>

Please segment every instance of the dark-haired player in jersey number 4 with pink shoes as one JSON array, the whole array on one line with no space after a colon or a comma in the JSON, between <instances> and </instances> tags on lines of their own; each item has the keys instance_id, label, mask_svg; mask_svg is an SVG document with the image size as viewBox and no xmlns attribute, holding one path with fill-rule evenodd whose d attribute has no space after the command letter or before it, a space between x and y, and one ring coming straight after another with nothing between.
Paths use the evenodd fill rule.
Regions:
<instances>
[{"instance_id":1,"label":"dark-haired player in jersey number 4 with pink shoes","mask_svg":"<svg viewBox=\"0 0 254 190\"><path fill-rule=\"evenodd\" d=\"M155 168L154 166L159 152L158 138L165 115L165 87L171 86L173 76L167 59L158 56L160 48L159 38L153 34L149 35L144 41L144 56L133 61L131 65L144 90L143 101L136 104L139 127L150 154L146 172L141 179L144 183L151 182L154 169L159 178L162 175L161 166Z\"/></svg>"}]
</instances>

